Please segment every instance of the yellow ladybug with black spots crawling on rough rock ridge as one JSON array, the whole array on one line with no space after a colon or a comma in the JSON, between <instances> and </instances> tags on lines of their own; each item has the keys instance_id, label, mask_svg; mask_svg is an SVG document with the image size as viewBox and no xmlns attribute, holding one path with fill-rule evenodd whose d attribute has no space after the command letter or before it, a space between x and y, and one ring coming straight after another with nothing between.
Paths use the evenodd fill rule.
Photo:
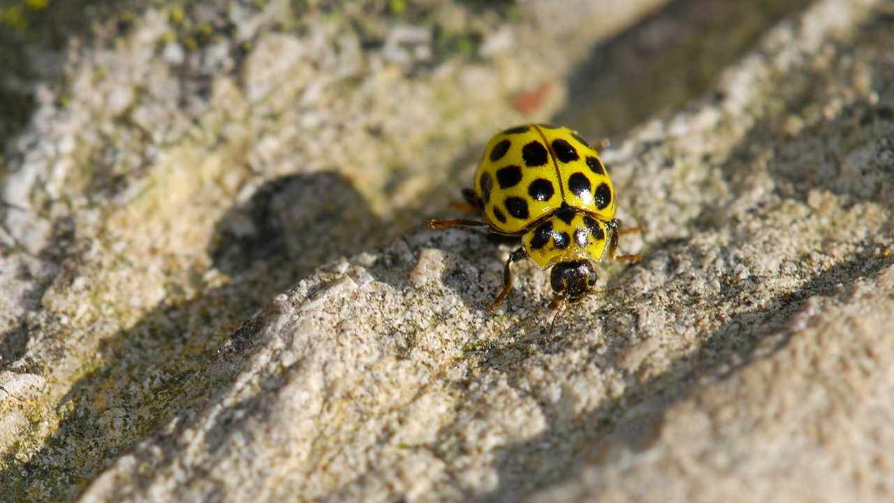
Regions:
<instances>
[{"instance_id":1,"label":"yellow ladybug with black spots crawling on rough rock ridge","mask_svg":"<svg viewBox=\"0 0 894 503\"><path fill-rule=\"evenodd\" d=\"M531 259L552 268L551 309L599 293L595 262L608 249L613 260L637 262L640 255L617 254L621 230L615 218L615 192L599 154L580 135L552 124L519 125L493 136L475 172L475 188L462 195L483 221L429 220L431 228L488 227L494 234L519 236L503 268L502 292L493 312L512 289L512 262ZM556 313L558 316L558 312Z\"/></svg>"}]
</instances>

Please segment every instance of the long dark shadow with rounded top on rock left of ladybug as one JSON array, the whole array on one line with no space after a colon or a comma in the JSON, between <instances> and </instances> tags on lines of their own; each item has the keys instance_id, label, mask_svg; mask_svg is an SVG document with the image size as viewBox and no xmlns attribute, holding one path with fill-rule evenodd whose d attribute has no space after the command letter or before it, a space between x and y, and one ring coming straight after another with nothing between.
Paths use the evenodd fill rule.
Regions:
<instances>
[{"instance_id":1,"label":"long dark shadow with rounded top on rock left of ladybug","mask_svg":"<svg viewBox=\"0 0 894 503\"><path fill-rule=\"evenodd\" d=\"M197 287L202 294L190 300L159 304L132 327L105 338L97 349L97 361L104 363L75 381L59 401L60 410L71 412L44 448L29 461L0 471L0 480L20 488L22 494L49 467L63 482L90 480L106 459L119 456L148 432L214 403L232 386L241 365L263 346L260 327L272 314L267 311L274 294L286 291L325 261L370 246L378 224L364 198L342 175L288 175L259 186L215 226L208 253L215 269L229 280L222 286ZM197 285L206 280L194 278ZM264 388L281 386L282 375L267 376ZM129 383L135 376L156 376L150 379L150 394L133 392ZM254 408L257 403L250 401L235 404L220 417ZM107 435L102 425L115 410L125 411L115 420L121 427L117 434ZM181 426L173 435L190 422L177 424ZM237 429L227 422L219 431L220 435L208 436L208 442L214 442L212 449L224 445L229 432ZM96 442L97 438L103 441ZM58 445L75 446L72 453L77 454L72 456L80 456L83 464L59 465ZM71 495L62 497L69 487L66 482L51 490L60 491L54 492L56 499L70 499Z\"/></svg>"}]
</instances>

